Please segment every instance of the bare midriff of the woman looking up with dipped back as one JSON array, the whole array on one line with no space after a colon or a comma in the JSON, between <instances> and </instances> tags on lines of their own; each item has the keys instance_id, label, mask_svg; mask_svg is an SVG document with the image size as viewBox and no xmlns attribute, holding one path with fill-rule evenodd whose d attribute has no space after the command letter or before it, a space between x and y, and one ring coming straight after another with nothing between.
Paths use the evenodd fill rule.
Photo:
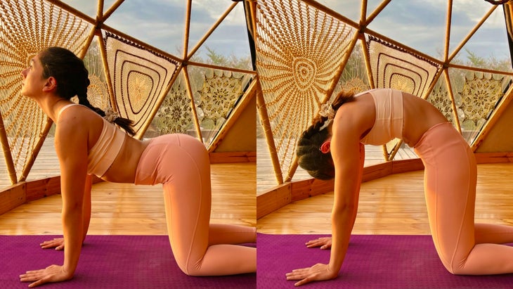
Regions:
<instances>
[{"instance_id":1,"label":"bare midriff of the woman looking up with dipped back","mask_svg":"<svg viewBox=\"0 0 513 289\"><path fill-rule=\"evenodd\" d=\"M137 165L148 143L125 136L119 154L101 179L112 183L134 184Z\"/></svg>"}]
</instances>

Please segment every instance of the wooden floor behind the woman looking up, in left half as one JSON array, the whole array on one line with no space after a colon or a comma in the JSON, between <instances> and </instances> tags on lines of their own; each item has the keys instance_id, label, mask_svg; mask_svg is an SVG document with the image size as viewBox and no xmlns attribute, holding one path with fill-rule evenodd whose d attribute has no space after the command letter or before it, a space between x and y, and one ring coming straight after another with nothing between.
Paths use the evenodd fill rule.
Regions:
<instances>
[{"instance_id":1,"label":"wooden floor behind the woman looking up, in left half","mask_svg":"<svg viewBox=\"0 0 513 289\"><path fill-rule=\"evenodd\" d=\"M256 164L212 165L212 223L256 226ZM53 195L0 215L0 235L62 234ZM93 185L92 235L167 235L162 186Z\"/></svg>"}]
</instances>

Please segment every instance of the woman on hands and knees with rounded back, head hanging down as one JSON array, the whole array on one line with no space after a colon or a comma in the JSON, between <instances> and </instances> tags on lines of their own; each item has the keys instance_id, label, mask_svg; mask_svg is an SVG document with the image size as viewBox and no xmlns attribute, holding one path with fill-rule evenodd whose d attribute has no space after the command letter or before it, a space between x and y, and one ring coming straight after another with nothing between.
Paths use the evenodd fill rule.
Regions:
<instances>
[{"instance_id":1,"label":"woman on hands and knees with rounded back, head hanging down","mask_svg":"<svg viewBox=\"0 0 513 289\"><path fill-rule=\"evenodd\" d=\"M287 274L295 285L336 278L358 210L364 144L403 139L424 163L424 193L431 235L452 274L513 273L513 227L474 225L476 160L465 139L422 98L393 89L342 93L325 105L298 143L299 165L318 179L335 177L332 238L307 243L331 248L330 263Z\"/></svg>"}]
</instances>

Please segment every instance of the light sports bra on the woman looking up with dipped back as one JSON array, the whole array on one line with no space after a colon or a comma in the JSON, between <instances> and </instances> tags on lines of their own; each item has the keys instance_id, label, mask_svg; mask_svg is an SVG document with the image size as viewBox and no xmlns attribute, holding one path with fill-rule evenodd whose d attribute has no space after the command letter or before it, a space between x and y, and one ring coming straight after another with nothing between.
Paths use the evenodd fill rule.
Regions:
<instances>
[{"instance_id":1,"label":"light sports bra on the woman looking up with dipped back","mask_svg":"<svg viewBox=\"0 0 513 289\"><path fill-rule=\"evenodd\" d=\"M66 108L72 105L78 104L65 105L60 109L59 116ZM96 141L87 155L87 174L94 174L98 177L103 176L110 168L123 146L126 135L124 131L118 129L114 124L105 120L105 118L102 117L102 120L103 129L100 137L98 137L98 141Z\"/></svg>"}]
</instances>

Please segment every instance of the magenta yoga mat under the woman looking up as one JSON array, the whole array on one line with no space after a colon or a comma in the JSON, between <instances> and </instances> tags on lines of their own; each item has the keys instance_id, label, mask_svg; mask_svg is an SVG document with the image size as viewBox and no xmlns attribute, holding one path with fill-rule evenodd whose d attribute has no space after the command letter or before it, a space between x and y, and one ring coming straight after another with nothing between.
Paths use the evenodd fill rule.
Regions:
<instances>
[{"instance_id":1,"label":"magenta yoga mat under the woman looking up","mask_svg":"<svg viewBox=\"0 0 513 289\"><path fill-rule=\"evenodd\" d=\"M42 250L56 236L0 236L0 288L27 288L20 274L62 264L63 251ZM247 244L252 245L254 244ZM87 236L74 278L37 288L256 288L256 274L192 277L174 261L167 236Z\"/></svg>"}]
</instances>

